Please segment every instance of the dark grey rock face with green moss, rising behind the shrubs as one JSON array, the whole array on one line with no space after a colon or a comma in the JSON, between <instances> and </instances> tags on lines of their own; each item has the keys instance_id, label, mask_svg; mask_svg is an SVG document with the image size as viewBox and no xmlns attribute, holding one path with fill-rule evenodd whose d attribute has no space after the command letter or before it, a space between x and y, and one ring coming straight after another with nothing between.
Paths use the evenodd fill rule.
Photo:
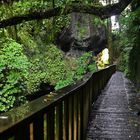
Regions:
<instances>
[{"instance_id":1,"label":"dark grey rock face with green moss, rising behind the shrubs","mask_svg":"<svg viewBox=\"0 0 140 140\"><path fill-rule=\"evenodd\" d=\"M95 26L92 16L81 13L71 15L71 24L57 37L57 45L67 55L81 55L85 51L100 53L107 45L105 26Z\"/></svg>"}]
</instances>

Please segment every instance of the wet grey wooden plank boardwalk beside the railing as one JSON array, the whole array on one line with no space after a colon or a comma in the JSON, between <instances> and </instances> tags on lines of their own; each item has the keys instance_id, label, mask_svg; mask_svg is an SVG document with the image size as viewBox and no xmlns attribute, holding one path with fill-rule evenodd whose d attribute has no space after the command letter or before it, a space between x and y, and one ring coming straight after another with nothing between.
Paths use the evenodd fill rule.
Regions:
<instances>
[{"instance_id":1,"label":"wet grey wooden plank boardwalk beside the railing","mask_svg":"<svg viewBox=\"0 0 140 140\"><path fill-rule=\"evenodd\" d=\"M86 140L140 140L136 96L133 84L116 72L93 105Z\"/></svg>"}]
</instances>

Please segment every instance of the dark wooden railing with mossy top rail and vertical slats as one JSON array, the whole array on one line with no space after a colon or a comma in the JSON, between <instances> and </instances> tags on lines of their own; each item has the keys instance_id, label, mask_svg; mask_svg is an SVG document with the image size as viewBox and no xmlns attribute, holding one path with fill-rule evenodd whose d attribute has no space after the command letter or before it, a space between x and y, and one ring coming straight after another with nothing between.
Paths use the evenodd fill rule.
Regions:
<instances>
[{"instance_id":1,"label":"dark wooden railing with mossy top rail and vertical slats","mask_svg":"<svg viewBox=\"0 0 140 140\"><path fill-rule=\"evenodd\" d=\"M84 140L92 103L115 65L0 115L0 140Z\"/></svg>"}]
</instances>

